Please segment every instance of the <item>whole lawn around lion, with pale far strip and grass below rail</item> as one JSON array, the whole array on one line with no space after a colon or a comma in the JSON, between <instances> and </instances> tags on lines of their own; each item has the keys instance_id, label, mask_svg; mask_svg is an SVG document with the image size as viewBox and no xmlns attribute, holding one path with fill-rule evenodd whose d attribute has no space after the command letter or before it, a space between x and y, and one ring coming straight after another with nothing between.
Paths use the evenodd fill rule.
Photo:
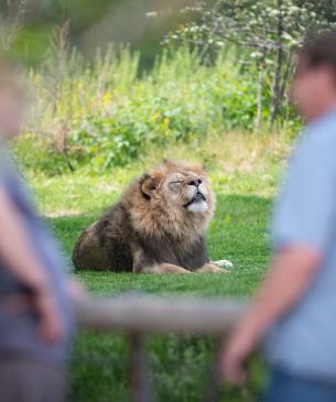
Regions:
<instances>
[{"instance_id":1,"label":"whole lawn around lion, with pale far strip and grass below rail","mask_svg":"<svg viewBox=\"0 0 336 402\"><path fill-rule=\"evenodd\" d=\"M254 141L254 142L253 142ZM217 195L216 216L207 236L212 259L228 259L235 268L223 275L134 275L111 272L78 273L93 295L147 292L198 297L249 297L260 283L269 259L268 218L271 199L288 145L279 141L245 138L226 139L209 146L207 163ZM196 159L208 154L203 146ZM173 150L174 151L174 150ZM173 151L171 151L173 153ZM176 149L176 159L187 159L188 149ZM139 162L113 175L77 173L47 177L29 174L43 215L58 237L71 264L71 253L79 232L111 205L129 181L163 155ZM170 156L170 155L167 155ZM159 401L203 400L207 370L218 339L176 337L149 338L151 380ZM128 344L115 334L80 334L73 354L72 401L128 401ZM257 401L263 377L260 361L252 362L252 378L245 390L225 388L223 401Z\"/></svg>"}]
</instances>

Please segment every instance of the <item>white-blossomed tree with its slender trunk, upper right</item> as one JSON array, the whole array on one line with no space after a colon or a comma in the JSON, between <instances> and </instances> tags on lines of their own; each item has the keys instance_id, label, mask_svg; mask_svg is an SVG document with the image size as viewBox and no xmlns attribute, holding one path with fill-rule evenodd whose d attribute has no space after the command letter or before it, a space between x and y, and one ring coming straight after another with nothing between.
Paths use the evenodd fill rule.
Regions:
<instances>
[{"instance_id":1,"label":"white-blossomed tree with its slender trunk, upper right","mask_svg":"<svg viewBox=\"0 0 336 402\"><path fill-rule=\"evenodd\" d=\"M286 115L286 89L295 67L295 51L307 37L336 28L332 0L219 0L215 6L197 1L182 11L192 12L192 21L167 35L165 43L189 43L204 59L234 43L239 50L237 64L252 74L256 68L259 72L257 127L264 121L260 109L268 104L265 80L271 82L271 129Z\"/></svg>"}]
</instances>

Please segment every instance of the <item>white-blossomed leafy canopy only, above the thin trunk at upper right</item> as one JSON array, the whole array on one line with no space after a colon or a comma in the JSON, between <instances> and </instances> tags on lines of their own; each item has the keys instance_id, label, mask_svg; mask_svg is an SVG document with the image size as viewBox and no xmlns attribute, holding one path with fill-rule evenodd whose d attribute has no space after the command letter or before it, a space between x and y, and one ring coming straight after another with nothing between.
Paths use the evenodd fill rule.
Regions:
<instances>
[{"instance_id":1,"label":"white-blossomed leafy canopy only, above the thin trunk at upper right","mask_svg":"<svg viewBox=\"0 0 336 402\"><path fill-rule=\"evenodd\" d=\"M277 32L281 15L281 41L285 53L297 48L308 36L336 24L335 3L301 0L219 0L195 2L182 13L192 13L189 23L166 36L165 42L187 41L203 48L221 50L227 42L245 47L246 56L274 66Z\"/></svg>"}]
</instances>

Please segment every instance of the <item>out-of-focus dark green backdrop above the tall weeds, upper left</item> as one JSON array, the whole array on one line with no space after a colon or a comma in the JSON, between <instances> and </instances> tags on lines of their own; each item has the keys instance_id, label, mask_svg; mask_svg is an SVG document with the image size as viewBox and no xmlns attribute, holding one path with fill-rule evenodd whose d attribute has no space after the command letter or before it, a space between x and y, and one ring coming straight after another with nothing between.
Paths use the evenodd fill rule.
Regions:
<instances>
[{"instance_id":1,"label":"out-of-focus dark green backdrop above the tall weeds, upper left","mask_svg":"<svg viewBox=\"0 0 336 402\"><path fill-rule=\"evenodd\" d=\"M87 56L111 41L130 43L141 51L144 68L153 64L162 37L177 28L180 4L180 0L162 1L150 17L148 0L3 0L0 52L4 50L20 63L36 66L45 57L53 26L69 21L69 42Z\"/></svg>"}]
</instances>

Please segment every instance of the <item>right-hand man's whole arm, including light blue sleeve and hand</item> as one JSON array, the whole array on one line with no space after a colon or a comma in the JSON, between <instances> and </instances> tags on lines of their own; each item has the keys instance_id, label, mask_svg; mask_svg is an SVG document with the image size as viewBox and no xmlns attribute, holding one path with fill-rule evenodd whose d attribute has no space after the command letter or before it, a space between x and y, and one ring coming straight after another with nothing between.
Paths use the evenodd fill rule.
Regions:
<instances>
[{"instance_id":1,"label":"right-hand man's whole arm, including light blue sleeve and hand","mask_svg":"<svg viewBox=\"0 0 336 402\"><path fill-rule=\"evenodd\" d=\"M235 383L243 380L243 365L265 332L308 292L329 247L336 216L336 141L329 134L311 131L292 159L274 209L272 267L223 351L224 376Z\"/></svg>"}]
</instances>

